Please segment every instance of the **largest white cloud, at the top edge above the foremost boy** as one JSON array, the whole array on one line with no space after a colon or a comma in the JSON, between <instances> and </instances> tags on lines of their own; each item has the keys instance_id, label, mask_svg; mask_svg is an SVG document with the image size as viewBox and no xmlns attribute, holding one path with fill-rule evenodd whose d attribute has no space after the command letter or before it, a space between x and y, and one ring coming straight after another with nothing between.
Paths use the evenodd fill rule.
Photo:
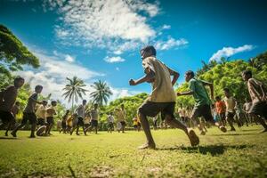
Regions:
<instances>
[{"instance_id":1,"label":"largest white cloud, at the top edge above the foremost boy","mask_svg":"<svg viewBox=\"0 0 267 178\"><path fill-rule=\"evenodd\" d=\"M125 42L148 43L156 35L147 23L148 17L139 12L155 17L159 12L158 3L141 0L46 0L44 4L60 14L61 24L55 31L64 44L109 49L109 46L126 45ZM111 51L120 54L123 49Z\"/></svg>"}]
</instances>

